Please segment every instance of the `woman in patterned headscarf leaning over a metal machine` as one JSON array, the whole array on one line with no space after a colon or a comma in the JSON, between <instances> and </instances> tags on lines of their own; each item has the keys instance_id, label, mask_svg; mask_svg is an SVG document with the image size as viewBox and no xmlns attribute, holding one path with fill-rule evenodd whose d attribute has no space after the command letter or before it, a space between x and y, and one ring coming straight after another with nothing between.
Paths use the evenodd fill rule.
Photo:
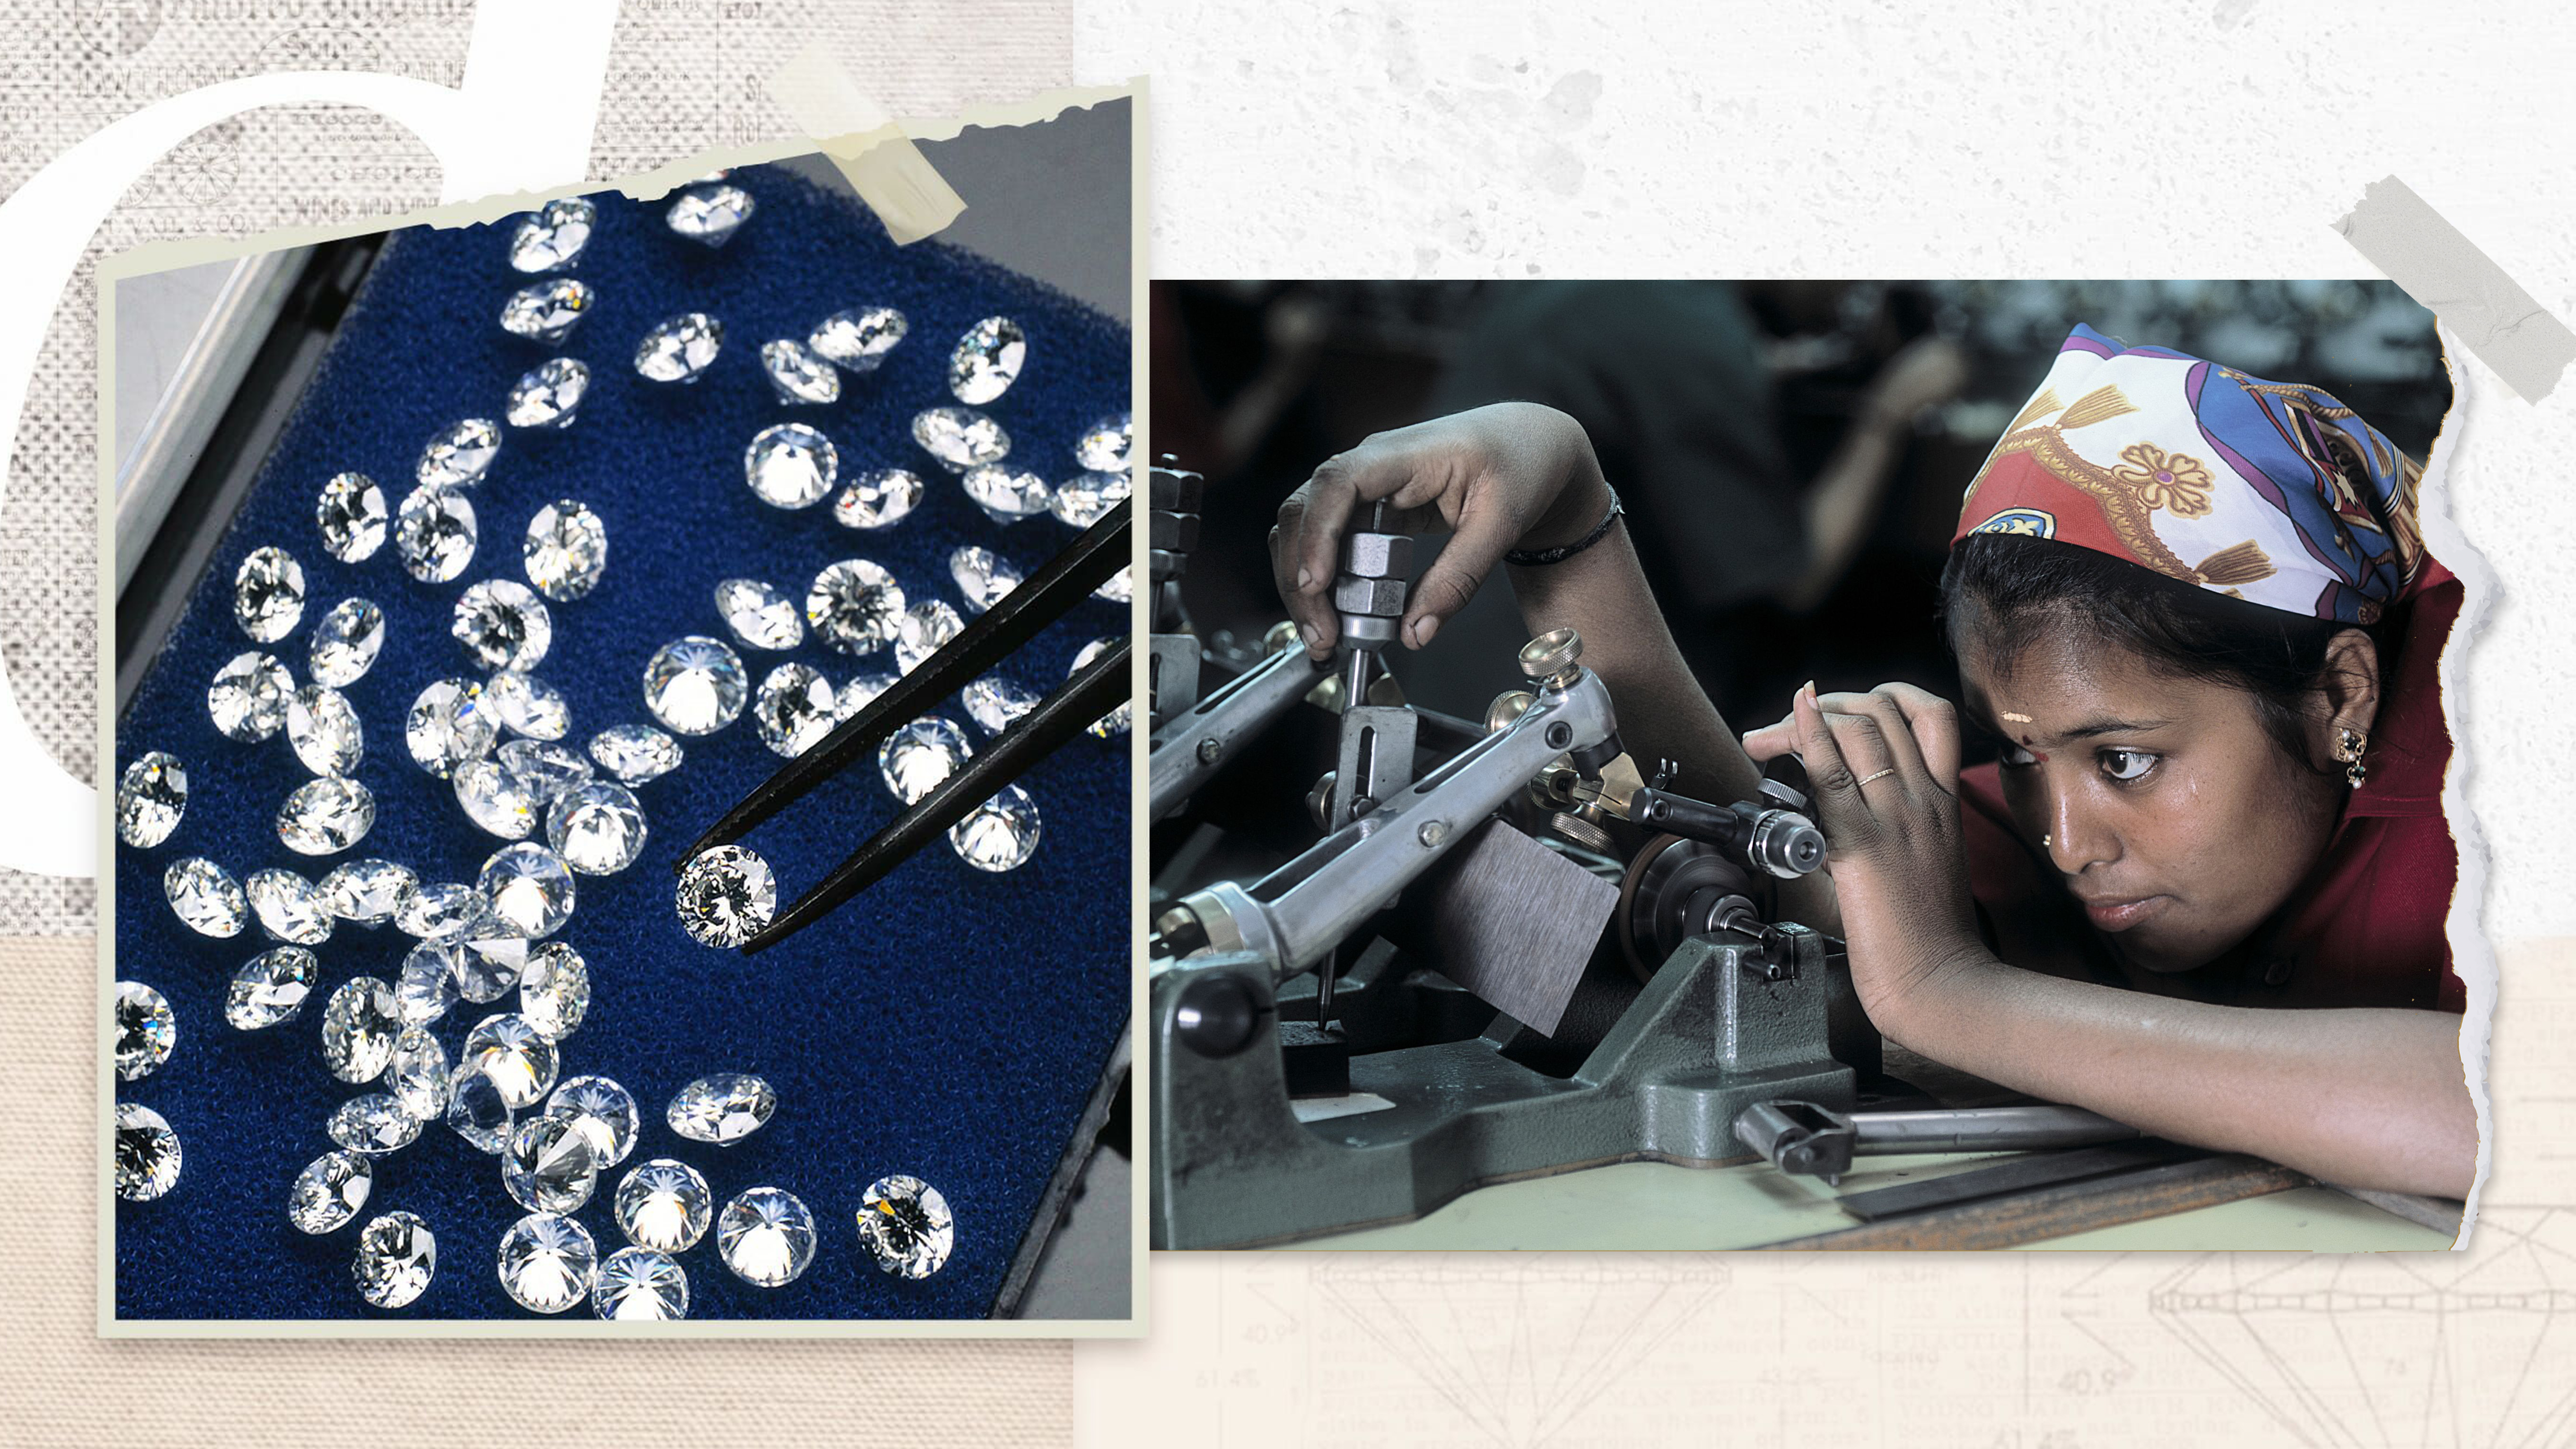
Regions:
<instances>
[{"instance_id":1,"label":"woman in patterned headscarf leaning over a metal machine","mask_svg":"<svg viewBox=\"0 0 2576 1449\"><path fill-rule=\"evenodd\" d=\"M1832 853L1783 913L1847 941L1888 1039L2331 1183L2465 1196L2437 683L2460 585L2424 554L2416 477L2324 392L2076 327L1960 511L1963 709L1806 686L1744 740L1561 413L1373 436L1280 508L1270 549L1303 637L1332 639L1337 541L1383 498L1455 529L1409 647L1510 562L1533 632L1582 629L1636 758L1741 799L1757 761L1798 753ZM1960 771L1960 717L1996 766Z\"/></svg>"}]
</instances>

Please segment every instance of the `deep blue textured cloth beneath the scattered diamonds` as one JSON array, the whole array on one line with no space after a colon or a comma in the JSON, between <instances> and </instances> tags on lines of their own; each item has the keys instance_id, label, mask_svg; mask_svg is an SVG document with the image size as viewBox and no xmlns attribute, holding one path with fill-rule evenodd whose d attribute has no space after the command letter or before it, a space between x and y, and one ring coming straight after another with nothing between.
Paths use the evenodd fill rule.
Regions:
<instances>
[{"instance_id":1,"label":"deep blue textured cloth beneath the scattered diamonds","mask_svg":"<svg viewBox=\"0 0 2576 1449\"><path fill-rule=\"evenodd\" d=\"M325 995L355 975L394 980L410 938L392 926L343 923L317 949L322 977L304 1013L234 1031L224 1021L227 982L273 941L255 923L227 941L188 931L162 897L162 869L201 853L245 882L263 866L319 879L345 859L384 856L425 882L471 882L502 841L464 817L448 781L410 761L402 719L430 681L479 678L448 634L456 596L482 578L526 578L520 539L541 505L577 498L608 526L608 572L587 598L549 606L556 637L536 670L572 704L567 743L577 748L608 724L652 724L641 673L654 647L680 634L726 637L714 606L721 578L765 578L801 601L819 567L866 557L894 570L907 598L948 598L963 611L948 578L953 547L987 544L1033 570L1072 539L1048 516L989 521L912 443L909 418L953 402L951 343L979 317L1010 315L1028 330L1028 366L989 410L1012 433L1015 464L1072 477L1082 428L1126 407L1126 327L938 242L894 248L855 201L791 173L747 168L737 180L760 206L724 250L670 235L665 204L598 196L600 227L574 273L598 289L598 304L562 348L495 325L502 299L528 281L505 260L515 219L399 232L134 694L116 766L170 750L188 768L191 797L167 843L116 856L118 977L157 987L178 1013L170 1062L118 1083L118 1098L170 1119L185 1171L160 1201L116 1204L121 1318L384 1318L350 1284L355 1227L296 1232L286 1191L307 1160L332 1147L322 1132L330 1111L376 1091L325 1070ZM837 405L783 407L762 376L760 343L801 338L824 315L873 302L912 320L889 364L845 379ZM716 364L690 387L639 379L636 340L688 309L724 322ZM456 583L415 583L392 541L361 565L322 549L314 500L330 474L366 472L399 503L433 433L466 415L497 420L507 387L556 353L590 361L590 397L569 431L507 428L500 459L471 492L482 541ZM884 531L842 529L829 503L796 513L760 503L744 487L742 451L778 420L822 425L840 446L842 477L909 467L930 482L927 498ZM206 683L255 647L232 619L232 578L263 544L304 565L304 621L286 642L265 645L296 681L309 678L312 627L332 603L363 596L386 611L384 655L345 691L366 727L355 779L376 794L379 817L366 841L332 859L278 843L276 810L309 779L286 735L232 743L206 714ZM1084 642L1126 627L1123 606L1087 601L1005 673L1043 694ZM806 660L835 683L894 668L889 652L853 663L811 637L791 655L742 657L755 683L781 657ZM984 740L956 701L943 712ZM984 874L943 843L757 959L683 933L672 866L701 828L783 761L760 745L747 714L683 745L680 771L636 786L652 825L644 859L616 877L577 877L577 913L559 936L582 951L592 977L590 1016L564 1042L562 1075L616 1078L644 1119L636 1152L603 1173L580 1222L603 1256L621 1248L616 1178L647 1158L680 1158L706 1173L719 1209L742 1189L773 1183L799 1194L822 1230L811 1269L783 1289L732 1276L708 1232L680 1256L690 1318L984 1318L1128 1011L1128 740L1082 737L1023 776L1043 812L1038 853L1023 869ZM896 812L871 766L747 843L778 866L786 902ZM435 1034L453 1057L474 1021L515 1008L515 993L495 1006L461 1003ZM768 1078L778 1088L775 1119L732 1147L670 1132L670 1096L719 1070ZM956 1209L956 1256L927 1281L878 1274L858 1243L860 1191L884 1173L914 1173ZM376 1158L361 1222L394 1209L417 1212L438 1235L438 1276L397 1310L402 1318L523 1318L495 1276L495 1248L523 1212L502 1191L497 1158L430 1124L412 1147Z\"/></svg>"}]
</instances>

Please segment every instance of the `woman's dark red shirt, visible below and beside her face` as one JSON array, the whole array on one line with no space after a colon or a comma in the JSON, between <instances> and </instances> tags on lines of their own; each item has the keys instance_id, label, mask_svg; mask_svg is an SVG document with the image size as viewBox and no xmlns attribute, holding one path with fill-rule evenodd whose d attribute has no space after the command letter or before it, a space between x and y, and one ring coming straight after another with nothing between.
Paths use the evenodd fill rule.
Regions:
<instances>
[{"instance_id":1,"label":"woman's dark red shirt, visible below and beside her face","mask_svg":"<svg viewBox=\"0 0 2576 1449\"><path fill-rule=\"evenodd\" d=\"M2388 611L2383 639L2393 657L2365 755L2367 781L2290 900L2244 944L2190 972L2123 972L2063 874L2014 830L1996 766L1960 771L1968 890L1986 944L2014 967L2223 1006L2465 1011L2468 990L2442 928L2460 879L2442 820L2450 730L2439 676L2458 616L2460 580L2427 559L2414 596Z\"/></svg>"}]
</instances>

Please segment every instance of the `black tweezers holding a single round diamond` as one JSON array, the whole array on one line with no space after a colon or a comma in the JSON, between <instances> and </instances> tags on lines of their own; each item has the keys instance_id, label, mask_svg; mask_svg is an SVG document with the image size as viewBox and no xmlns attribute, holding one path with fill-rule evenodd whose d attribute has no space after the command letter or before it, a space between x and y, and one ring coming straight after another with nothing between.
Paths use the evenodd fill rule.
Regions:
<instances>
[{"instance_id":1,"label":"black tweezers holding a single round diamond","mask_svg":"<svg viewBox=\"0 0 2576 1449\"><path fill-rule=\"evenodd\" d=\"M1002 663L1012 650L1030 642L1095 588L1128 565L1128 503L1121 500L1097 523L1082 531L1061 554L1046 562L1025 583L1005 593L981 619L958 632L956 639L930 655L922 668L894 681L886 694L871 699L858 714L842 719L806 753L786 763L739 804L724 812L706 835L680 851L680 866L701 851L729 846L762 820L811 794L822 781L866 761L896 727L927 714L979 673ZM757 954L806 926L822 920L853 895L868 890L894 866L912 859L1005 784L1020 779L1030 766L1051 755L1066 740L1087 730L1095 719L1131 699L1128 634L1118 634L1097 660L1056 686L1036 709L1015 719L992 750L966 761L966 768L948 776L930 794L914 802L894 825L878 830L850 859L832 866L832 874L814 890L796 897L775 920L742 944L742 954Z\"/></svg>"}]
</instances>

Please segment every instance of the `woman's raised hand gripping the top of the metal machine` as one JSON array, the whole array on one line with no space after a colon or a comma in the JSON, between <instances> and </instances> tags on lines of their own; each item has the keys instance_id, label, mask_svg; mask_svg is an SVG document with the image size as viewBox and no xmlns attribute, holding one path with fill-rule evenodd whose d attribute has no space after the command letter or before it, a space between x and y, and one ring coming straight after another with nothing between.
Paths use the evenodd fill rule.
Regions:
<instances>
[{"instance_id":1,"label":"woman's raised hand gripping the top of the metal machine","mask_svg":"<svg viewBox=\"0 0 2576 1449\"><path fill-rule=\"evenodd\" d=\"M1319 660L1332 655L1342 632L1332 611L1342 534L1368 518L1363 505L1378 500L1386 500L1388 531L1455 531L1404 603L1399 637L1419 650L1466 608L1507 549L1582 539L1610 508L1610 490L1582 425L1535 402L1497 402L1370 433L1324 459L1280 503L1278 529L1270 529L1270 572L1306 652Z\"/></svg>"}]
</instances>

